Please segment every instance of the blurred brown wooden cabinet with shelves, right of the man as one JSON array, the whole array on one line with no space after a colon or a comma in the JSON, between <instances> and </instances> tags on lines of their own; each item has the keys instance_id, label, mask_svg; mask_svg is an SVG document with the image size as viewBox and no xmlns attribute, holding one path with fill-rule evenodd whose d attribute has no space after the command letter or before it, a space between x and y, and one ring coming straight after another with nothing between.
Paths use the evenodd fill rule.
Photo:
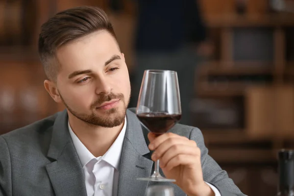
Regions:
<instances>
[{"instance_id":1,"label":"blurred brown wooden cabinet with shelves, right of the man","mask_svg":"<svg viewBox=\"0 0 294 196\"><path fill-rule=\"evenodd\" d=\"M238 14L237 1L200 0L215 54L196 68L194 125L246 195L275 195L277 149L294 148L294 14L271 11L268 0L246 0ZM228 100L238 106L231 124L215 115L219 124L207 126L199 110L228 108Z\"/></svg>"}]
</instances>

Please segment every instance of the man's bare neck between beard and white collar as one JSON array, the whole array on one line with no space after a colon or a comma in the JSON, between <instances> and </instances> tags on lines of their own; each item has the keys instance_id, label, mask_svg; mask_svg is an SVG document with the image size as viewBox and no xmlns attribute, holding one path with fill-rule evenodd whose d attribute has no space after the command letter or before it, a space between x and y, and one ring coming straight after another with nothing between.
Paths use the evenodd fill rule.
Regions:
<instances>
[{"instance_id":1,"label":"man's bare neck between beard and white collar","mask_svg":"<svg viewBox=\"0 0 294 196\"><path fill-rule=\"evenodd\" d=\"M123 129L124 122L116 127L94 126L77 119L70 112L69 122L73 132L85 147L95 156L103 156Z\"/></svg>"}]
</instances>

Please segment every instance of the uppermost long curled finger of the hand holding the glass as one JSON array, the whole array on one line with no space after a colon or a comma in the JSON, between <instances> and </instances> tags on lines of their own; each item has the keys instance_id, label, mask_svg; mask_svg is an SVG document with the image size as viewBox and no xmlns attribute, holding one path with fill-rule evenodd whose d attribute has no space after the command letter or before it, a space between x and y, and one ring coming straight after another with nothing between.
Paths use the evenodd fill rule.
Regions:
<instances>
[{"instance_id":1,"label":"uppermost long curled finger of the hand holding the glass","mask_svg":"<svg viewBox=\"0 0 294 196\"><path fill-rule=\"evenodd\" d=\"M182 137L173 137L165 140L162 144L160 144L155 151L152 154L152 160L160 159L167 150L169 150L172 147L177 148L178 145L185 145L185 146L191 146L191 147L197 147L196 142L192 142L191 140L186 140Z\"/></svg>"}]
</instances>

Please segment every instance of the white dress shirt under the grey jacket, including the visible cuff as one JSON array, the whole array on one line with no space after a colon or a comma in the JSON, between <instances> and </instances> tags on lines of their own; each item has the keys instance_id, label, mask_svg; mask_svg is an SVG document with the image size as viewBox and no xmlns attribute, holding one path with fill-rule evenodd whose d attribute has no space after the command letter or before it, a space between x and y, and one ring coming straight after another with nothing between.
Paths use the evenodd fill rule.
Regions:
<instances>
[{"instance_id":1,"label":"white dress shirt under the grey jacket, including the visible cuff","mask_svg":"<svg viewBox=\"0 0 294 196\"><path fill-rule=\"evenodd\" d=\"M126 118L123 129L112 146L103 156L95 157L74 134L68 122L73 145L83 167L87 196L117 196L120 160L123 150L123 139L126 131ZM206 182L207 183L207 182ZM207 183L215 196L221 196L219 190Z\"/></svg>"}]
</instances>

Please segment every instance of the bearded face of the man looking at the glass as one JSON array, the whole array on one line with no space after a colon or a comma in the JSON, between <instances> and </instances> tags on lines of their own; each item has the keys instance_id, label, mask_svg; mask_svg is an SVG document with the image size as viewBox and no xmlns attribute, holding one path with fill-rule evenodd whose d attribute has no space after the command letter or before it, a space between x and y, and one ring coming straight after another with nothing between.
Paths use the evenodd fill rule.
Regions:
<instances>
[{"instance_id":1,"label":"bearded face of the man looking at the glass","mask_svg":"<svg viewBox=\"0 0 294 196\"><path fill-rule=\"evenodd\" d=\"M114 37L98 31L56 52L59 95L76 118L102 127L123 123L130 98L124 56Z\"/></svg>"}]
</instances>

